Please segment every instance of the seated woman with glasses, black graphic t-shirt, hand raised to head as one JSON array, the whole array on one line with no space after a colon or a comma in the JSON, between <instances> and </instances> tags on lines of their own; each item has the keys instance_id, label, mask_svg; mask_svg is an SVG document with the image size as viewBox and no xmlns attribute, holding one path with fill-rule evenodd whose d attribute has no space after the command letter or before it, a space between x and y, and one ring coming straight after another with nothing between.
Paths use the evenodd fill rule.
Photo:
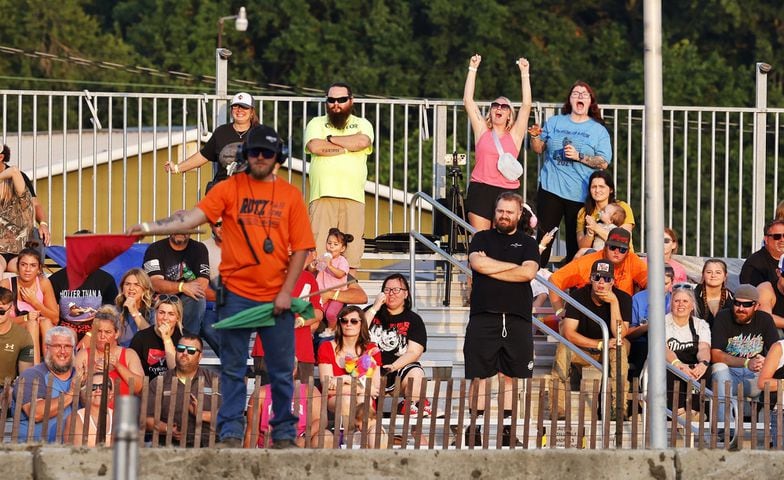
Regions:
<instances>
[{"instance_id":1,"label":"seated woman with glasses, black graphic t-shirt, hand raised to head","mask_svg":"<svg viewBox=\"0 0 784 480\"><path fill-rule=\"evenodd\" d=\"M381 293L373 306L365 312L370 339L381 350L382 368L386 373L386 391L395 388L400 378L403 395L409 400L408 409L416 415L419 408L430 416L430 402L419 398L420 385L425 372L419 359L427 348L427 330L422 317L411 310L408 296L408 281L395 273L384 279ZM413 383L409 383L409 379ZM404 413L405 401L398 410Z\"/></svg>"}]
</instances>

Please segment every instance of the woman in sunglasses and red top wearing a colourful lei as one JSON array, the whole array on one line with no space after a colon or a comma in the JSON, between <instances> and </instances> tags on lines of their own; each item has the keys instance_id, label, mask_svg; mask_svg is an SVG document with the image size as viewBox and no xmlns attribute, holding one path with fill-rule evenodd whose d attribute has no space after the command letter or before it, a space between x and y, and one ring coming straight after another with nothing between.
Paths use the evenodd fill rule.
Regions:
<instances>
[{"instance_id":1,"label":"woman in sunglasses and red top wearing a colourful lei","mask_svg":"<svg viewBox=\"0 0 784 480\"><path fill-rule=\"evenodd\" d=\"M363 355L371 356L377 366L369 376L359 375L358 364ZM359 380L356 390L357 405L363 401L365 388L370 388L373 398L378 396L381 384L378 368L382 365L381 352L376 344L370 341L364 312L358 306L349 305L340 311L335 339L319 346L318 361L319 378L326 382L322 384L322 393L327 393L327 408L331 412L335 411L338 378L343 379L341 414L344 416L349 413L352 378Z\"/></svg>"}]
</instances>

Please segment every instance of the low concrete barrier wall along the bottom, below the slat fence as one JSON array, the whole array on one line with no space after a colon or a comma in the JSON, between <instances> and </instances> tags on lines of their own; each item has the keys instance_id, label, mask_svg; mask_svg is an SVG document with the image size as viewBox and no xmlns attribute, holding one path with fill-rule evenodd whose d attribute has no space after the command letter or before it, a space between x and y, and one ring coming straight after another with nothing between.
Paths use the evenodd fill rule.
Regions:
<instances>
[{"instance_id":1,"label":"low concrete barrier wall along the bottom, below the slat fence","mask_svg":"<svg viewBox=\"0 0 784 480\"><path fill-rule=\"evenodd\" d=\"M0 452L7 479L102 479L112 451L9 447ZM686 479L784 477L784 455L722 450L346 451L142 449L139 478L590 478Z\"/></svg>"}]
</instances>

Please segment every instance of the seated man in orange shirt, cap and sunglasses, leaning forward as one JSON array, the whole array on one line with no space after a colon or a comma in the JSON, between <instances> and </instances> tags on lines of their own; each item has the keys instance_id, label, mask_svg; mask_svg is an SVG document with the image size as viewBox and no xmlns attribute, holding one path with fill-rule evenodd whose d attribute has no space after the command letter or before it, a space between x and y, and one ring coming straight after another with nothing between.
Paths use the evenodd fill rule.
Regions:
<instances>
[{"instance_id":1,"label":"seated man in orange shirt, cap and sunglasses, leaning forward","mask_svg":"<svg viewBox=\"0 0 784 480\"><path fill-rule=\"evenodd\" d=\"M550 282L561 290L583 287L590 282L591 267L597 260L608 260L615 271L614 286L634 295L635 287L642 290L648 286L648 264L636 253L629 251L632 234L623 228L610 230L604 248L598 252L583 255L561 267L550 276ZM558 317L564 314L564 301L560 295L550 292L550 304Z\"/></svg>"}]
</instances>

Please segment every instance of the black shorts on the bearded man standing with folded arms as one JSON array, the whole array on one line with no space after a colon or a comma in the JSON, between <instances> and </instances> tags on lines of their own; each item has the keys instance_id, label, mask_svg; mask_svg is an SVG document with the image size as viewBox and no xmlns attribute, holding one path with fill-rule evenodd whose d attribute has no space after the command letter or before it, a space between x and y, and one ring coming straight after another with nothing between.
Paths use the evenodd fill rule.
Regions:
<instances>
[{"instance_id":1,"label":"black shorts on the bearded man standing with folded arms","mask_svg":"<svg viewBox=\"0 0 784 480\"><path fill-rule=\"evenodd\" d=\"M489 378L498 372L508 377L531 378L534 371L531 326L530 319L510 313L471 315L463 344L466 378Z\"/></svg>"}]
</instances>

